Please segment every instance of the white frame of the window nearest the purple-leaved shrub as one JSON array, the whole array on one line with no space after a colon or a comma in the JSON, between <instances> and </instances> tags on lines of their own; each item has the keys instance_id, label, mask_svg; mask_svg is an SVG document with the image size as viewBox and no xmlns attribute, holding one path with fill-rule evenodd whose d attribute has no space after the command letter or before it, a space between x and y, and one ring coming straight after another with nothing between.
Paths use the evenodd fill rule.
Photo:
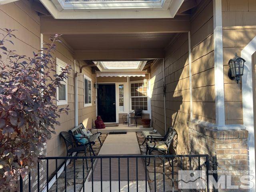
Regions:
<instances>
[{"instance_id":1,"label":"white frame of the window nearest the purple-leaved shrub","mask_svg":"<svg viewBox=\"0 0 256 192\"><path fill-rule=\"evenodd\" d=\"M65 68L67 64L60 60L59 58L56 58L56 74L60 74L62 68ZM59 100L59 88L56 87L56 98L57 98L57 105L67 105L68 104L68 79L61 82L62 85L65 85L66 87L66 100Z\"/></svg>"}]
</instances>

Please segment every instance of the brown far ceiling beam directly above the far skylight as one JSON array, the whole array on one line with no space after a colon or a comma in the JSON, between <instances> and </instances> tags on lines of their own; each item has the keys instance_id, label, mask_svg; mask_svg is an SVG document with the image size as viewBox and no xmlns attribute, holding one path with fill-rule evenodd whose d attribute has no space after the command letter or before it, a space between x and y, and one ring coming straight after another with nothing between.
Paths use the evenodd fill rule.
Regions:
<instances>
[{"instance_id":1,"label":"brown far ceiling beam directly above the far skylight","mask_svg":"<svg viewBox=\"0 0 256 192\"><path fill-rule=\"evenodd\" d=\"M75 50L76 60L140 60L164 58L162 49Z\"/></svg>"}]
</instances>

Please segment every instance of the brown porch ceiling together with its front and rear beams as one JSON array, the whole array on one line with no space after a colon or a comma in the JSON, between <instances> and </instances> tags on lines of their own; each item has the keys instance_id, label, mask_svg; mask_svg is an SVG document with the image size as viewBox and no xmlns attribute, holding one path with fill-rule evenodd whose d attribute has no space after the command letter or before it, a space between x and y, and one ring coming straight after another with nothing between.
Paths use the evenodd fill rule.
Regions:
<instances>
[{"instance_id":1,"label":"brown porch ceiling together with its front and rear beams","mask_svg":"<svg viewBox=\"0 0 256 192\"><path fill-rule=\"evenodd\" d=\"M41 17L42 34L62 34L77 60L164 58L176 33L190 30L190 17L169 19L63 20Z\"/></svg>"}]
</instances>

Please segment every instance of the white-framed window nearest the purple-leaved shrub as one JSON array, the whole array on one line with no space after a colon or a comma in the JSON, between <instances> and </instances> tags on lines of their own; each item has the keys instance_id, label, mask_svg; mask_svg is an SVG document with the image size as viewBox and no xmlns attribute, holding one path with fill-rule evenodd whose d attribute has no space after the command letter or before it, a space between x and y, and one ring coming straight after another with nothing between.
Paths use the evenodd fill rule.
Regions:
<instances>
[{"instance_id":1,"label":"white-framed window nearest the purple-leaved shrub","mask_svg":"<svg viewBox=\"0 0 256 192\"><path fill-rule=\"evenodd\" d=\"M66 67L66 63L62 60L56 58L56 73L61 74L62 69ZM57 92L57 105L67 105L68 104L68 84L67 79L60 82L60 86L56 89Z\"/></svg>"}]
</instances>

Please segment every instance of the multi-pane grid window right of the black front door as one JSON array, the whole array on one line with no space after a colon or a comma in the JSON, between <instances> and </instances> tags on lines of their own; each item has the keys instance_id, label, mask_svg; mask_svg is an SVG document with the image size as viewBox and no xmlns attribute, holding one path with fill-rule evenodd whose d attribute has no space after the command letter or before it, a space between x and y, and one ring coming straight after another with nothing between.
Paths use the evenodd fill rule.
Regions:
<instances>
[{"instance_id":1,"label":"multi-pane grid window right of the black front door","mask_svg":"<svg viewBox=\"0 0 256 192\"><path fill-rule=\"evenodd\" d=\"M148 92L146 82L137 82L130 84L132 110L148 110Z\"/></svg>"}]
</instances>

